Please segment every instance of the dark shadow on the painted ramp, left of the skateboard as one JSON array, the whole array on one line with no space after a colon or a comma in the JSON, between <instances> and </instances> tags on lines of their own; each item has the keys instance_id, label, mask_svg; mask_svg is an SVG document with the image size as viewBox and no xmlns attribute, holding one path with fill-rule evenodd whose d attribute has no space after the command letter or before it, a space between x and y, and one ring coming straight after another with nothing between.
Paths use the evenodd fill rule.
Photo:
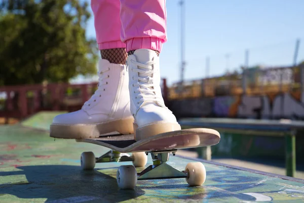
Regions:
<instances>
[{"instance_id":1,"label":"dark shadow on the painted ramp, left of the skateboard","mask_svg":"<svg viewBox=\"0 0 304 203\"><path fill-rule=\"evenodd\" d=\"M116 178L72 165L19 166L17 172L0 172L1 177L25 175L27 181L1 184L1 194L19 198L47 198L46 202L125 201L144 194L143 190L121 190ZM116 171L115 171L116 174ZM0 194L0 195L1 195Z\"/></svg>"}]
</instances>

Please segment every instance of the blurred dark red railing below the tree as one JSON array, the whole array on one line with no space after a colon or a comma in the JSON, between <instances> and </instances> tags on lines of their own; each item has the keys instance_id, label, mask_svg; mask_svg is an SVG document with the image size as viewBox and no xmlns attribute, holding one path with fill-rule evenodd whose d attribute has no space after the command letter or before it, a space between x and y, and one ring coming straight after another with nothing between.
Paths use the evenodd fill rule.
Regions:
<instances>
[{"instance_id":1,"label":"blurred dark red railing below the tree","mask_svg":"<svg viewBox=\"0 0 304 203\"><path fill-rule=\"evenodd\" d=\"M162 92L167 101L166 79ZM24 119L39 111L75 111L87 101L97 83L47 84L0 87L0 117Z\"/></svg>"}]
</instances>

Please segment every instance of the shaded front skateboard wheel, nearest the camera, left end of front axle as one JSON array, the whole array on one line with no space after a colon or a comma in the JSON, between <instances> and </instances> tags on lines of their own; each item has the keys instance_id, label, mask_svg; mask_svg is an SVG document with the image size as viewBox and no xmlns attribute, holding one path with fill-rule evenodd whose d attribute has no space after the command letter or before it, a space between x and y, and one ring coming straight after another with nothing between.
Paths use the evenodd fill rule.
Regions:
<instances>
[{"instance_id":1,"label":"shaded front skateboard wheel, nearest the camera, left end of front axle","mask_svg":"<svg viewBox=\"0 0 304 203\"><path fill-rule=\"evenodd\" d=\"M134 189L137 183L137 172L133 165L121 165L116 174L118 187L121 189Z\"/></svg>"}]
</instances>

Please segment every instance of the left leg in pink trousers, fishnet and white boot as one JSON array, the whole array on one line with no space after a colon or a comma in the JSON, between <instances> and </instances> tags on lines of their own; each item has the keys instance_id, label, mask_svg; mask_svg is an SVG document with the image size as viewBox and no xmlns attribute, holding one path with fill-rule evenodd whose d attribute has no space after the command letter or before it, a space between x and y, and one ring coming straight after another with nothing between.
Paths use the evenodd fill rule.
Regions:
<instances>
[{"instance_id":1,"label":"left leg in pink trousers, fishnet and white boot","mask_svg":"<svg viewBox=\"0 0 304 203\"><path fill-rule=\"evenodd\" d=\"M92 0L91 7L102 57L98 65L98 89L81 110L54 118L51 137L80 139L96 138L113 131L133 133L126 45L120 40L120 2Z\"/></svg>"}]
</instances>

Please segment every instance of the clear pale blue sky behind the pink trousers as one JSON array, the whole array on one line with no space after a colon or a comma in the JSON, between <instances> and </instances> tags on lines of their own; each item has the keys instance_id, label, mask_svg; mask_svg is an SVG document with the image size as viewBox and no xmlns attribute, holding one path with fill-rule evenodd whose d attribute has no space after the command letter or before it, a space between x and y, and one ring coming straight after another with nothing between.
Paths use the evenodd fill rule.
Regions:
<instances>
[{"instance_id":1,"label":"clear pale blue sky behind the pink trousers","mask_svg":"<svg viewBox=\"0 0 304 203\"><path fill-rule=\"evenodd\" d=\"M206 76L207 56L210 76L221 75L227 69L240 70L246 49L249 66L291 65L296 39L301 40L298 62L304 60L303 8L303 0L185 0L185 79ZM161 76L169 84L177 82L180 76L179 30L178 0L167 0L168 42L160 63ZM87 36L95 37L93 17Z\"/></svg>"}]
</instances>

